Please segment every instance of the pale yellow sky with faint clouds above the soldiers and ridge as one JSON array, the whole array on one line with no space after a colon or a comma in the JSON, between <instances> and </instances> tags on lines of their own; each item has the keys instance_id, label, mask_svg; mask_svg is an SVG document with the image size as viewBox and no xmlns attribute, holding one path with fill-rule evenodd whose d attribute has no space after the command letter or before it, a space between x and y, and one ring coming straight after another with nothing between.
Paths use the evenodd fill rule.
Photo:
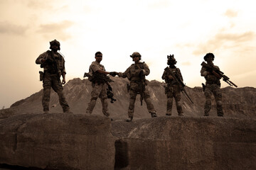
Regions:
<instances>
[{"instance_id":1,"label":"pale yellow sky with faint clouds above the soldiers and ridge","mask_svg":"<svg viewBox=\"0 0 256 170\"><path fill-rule=\"evenodd\" d=\"M201 86L207 52L239 87L256 87L256 2L251 0L0 0L0 107L42 89L35 60L60 41L67 80L79 77L95 52L107 71L124 72L138 51L149 80L161 81L174 54L187 86ZM222 81L222 87L228 86Z\"/></svg>"}]
</instances>

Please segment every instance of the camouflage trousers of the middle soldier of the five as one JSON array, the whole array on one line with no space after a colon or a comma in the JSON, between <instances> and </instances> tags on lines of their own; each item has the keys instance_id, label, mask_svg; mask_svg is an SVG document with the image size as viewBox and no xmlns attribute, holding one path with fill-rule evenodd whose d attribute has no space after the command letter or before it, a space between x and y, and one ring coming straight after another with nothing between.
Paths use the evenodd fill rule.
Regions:
<instances>
[{"instance_id":1,"label":"camouflage trousers of the middle soldier of the five","mask_svg":"<svg viewBox=\"0 0 256 170\"><path fill-rule=\"evenodd\" d=\"M134 116L134 103L136 101L137 94L139 94L139 87L137 84L134 84L131 82L131 87L129 90L129 108L128 108L128 116L129 118L132 118ZM154 105L151 102L150 96L149 96L149 90L145 86L145 90L143 93L143 99L146 102L146 108L149 111L149 113L156 113L154 109Z\"/></svg>"}]
</instances>

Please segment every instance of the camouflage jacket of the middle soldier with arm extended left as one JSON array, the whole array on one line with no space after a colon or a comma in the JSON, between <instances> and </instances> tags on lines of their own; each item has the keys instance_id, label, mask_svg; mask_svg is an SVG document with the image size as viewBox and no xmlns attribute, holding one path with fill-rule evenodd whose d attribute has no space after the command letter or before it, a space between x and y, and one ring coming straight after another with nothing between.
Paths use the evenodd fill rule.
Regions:
<instances>
[{"instance_id":1,"label":"camouflage jacket of the middle soldier with arm extended left","mask_svg":"<svg viewBox=\"0 0 256 170\"><path fill-rule=\"evenodd\" d=\"M140 81L149 75L150 70L145 62L132 64L125 72L119 72L118 76L129 79L129 81Z\"/></svg>"}]
</instances>

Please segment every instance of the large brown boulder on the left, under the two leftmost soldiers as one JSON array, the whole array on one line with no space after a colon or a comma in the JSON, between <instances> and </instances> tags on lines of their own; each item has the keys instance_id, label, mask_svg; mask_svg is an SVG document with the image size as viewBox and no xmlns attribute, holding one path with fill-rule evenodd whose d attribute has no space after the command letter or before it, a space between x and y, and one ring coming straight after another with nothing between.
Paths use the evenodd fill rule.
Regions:
<instances>
[{"instance_id":1,"label":"large brown boulder on the left, under the two leftmost soldiers","mask_svg":"<svg viewBox=\"0 0 256 170\"><path fill-rule=\"evenodd\" d=\"M14 115L0 120L0 164L40 169L114 169L109 118Z\"/></svg>"}]
</instances>

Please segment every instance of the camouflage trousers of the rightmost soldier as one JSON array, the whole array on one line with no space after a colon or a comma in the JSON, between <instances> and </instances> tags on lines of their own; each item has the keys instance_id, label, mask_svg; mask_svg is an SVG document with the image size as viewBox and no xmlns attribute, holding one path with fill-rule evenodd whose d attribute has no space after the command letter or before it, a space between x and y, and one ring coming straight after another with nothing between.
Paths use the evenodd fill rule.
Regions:
<instances>
[{"instance_id":1,"label":"camouflage trousers of the rightmost soldier","mask_svg":"<svg viewBox=\"0 0 256 170\"><path fill-rule=\"evenodd\" d=\"M220 93L220 86L217 84L206 84L205 96L206 103L204 106L204 115L208 116L211 108L211 95L213 94L216 101L217 115L223 116L223 108L222 108L222 95Z\"/></svg>"}]
</instances>

